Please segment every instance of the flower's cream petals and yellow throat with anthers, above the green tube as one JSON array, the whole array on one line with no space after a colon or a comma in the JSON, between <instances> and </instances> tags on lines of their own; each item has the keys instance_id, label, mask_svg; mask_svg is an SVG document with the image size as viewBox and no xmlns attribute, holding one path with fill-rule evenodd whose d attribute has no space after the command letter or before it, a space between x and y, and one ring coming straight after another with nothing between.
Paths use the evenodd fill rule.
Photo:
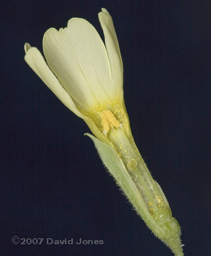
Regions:
<instances>
[{"instance_id":1,"label":"flower's cream petals and yellow throat with anthers, above the green tube","mask_svg":"<svg viewBox=\"0 0 211 256\"><path fill-rule=\"evenodd\" d=\"M45 59L25 44L25 60L72 112L83 118L102 141L111 128L130 133L123 99L123 65L114 24L108 11L98 14L105 45L87 21L72 18L67 27L50 28L43 38Z\"/></svg>"}]
</instances>

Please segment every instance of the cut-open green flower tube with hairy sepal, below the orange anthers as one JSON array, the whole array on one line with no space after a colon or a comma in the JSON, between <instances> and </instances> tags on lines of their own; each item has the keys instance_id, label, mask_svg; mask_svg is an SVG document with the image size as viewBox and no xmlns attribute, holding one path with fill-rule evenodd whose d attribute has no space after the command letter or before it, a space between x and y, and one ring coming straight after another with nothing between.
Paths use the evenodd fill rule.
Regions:
<instances>
[{"instance_id":1,"label":"cut-open green flower tube with hairy sepal, below the orange anthers","mask_svg":"<svg viewBox=\"0 0 211 256\"><path fill-rule=\"evenodd\" d=\"M166 197L153 180L133 137L128 137L121 127L109 129L107 139L110 145L89 136L95 142L105 166L147 226L176 256L182 256L179 224L173 218Z\"/></svg>"}]
</instances>

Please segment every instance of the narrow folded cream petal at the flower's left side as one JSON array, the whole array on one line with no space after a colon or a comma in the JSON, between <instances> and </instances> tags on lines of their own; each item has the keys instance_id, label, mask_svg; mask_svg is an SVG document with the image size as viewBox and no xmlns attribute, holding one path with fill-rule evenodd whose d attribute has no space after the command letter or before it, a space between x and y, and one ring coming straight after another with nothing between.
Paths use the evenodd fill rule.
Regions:
<instances>
[{"instance_id":1,"label":"narrow folded cream petal at the flower's left side","mask_svg":"<svg viewBox=\"0 0 211 256\"><path fill-rule=\"evenodd\" d=\"M44 83L51 89L51 91L57 95L57 97L64 103L76 115L84 119L84 116L76 108L70 95L65 91L58 78L53 74L51 69L45 62L42 54L36 47L31 47L26 43L24 46L26 55L25 61L33 69L33 71L44 81Z\"/></svg>"}]
</instances>

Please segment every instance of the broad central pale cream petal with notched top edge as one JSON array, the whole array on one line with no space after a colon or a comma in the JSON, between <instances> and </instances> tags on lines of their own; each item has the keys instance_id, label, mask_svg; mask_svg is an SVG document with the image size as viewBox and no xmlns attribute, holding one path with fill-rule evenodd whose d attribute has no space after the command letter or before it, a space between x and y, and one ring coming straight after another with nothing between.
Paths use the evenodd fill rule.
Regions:
<instances>
[{"instance_id":1,"label":"broad central pale cream petal with notched top edge","mask_svg":"<svg viewBox=\"0 0 211 256\"><path fill-rule=\"evenodd\" d=\"M83 109L90 111L114 100L108 55L88 21L73 18L64 29L50 28L43 38L43 50L51 70Z\"/></svg>"}]
</instances>

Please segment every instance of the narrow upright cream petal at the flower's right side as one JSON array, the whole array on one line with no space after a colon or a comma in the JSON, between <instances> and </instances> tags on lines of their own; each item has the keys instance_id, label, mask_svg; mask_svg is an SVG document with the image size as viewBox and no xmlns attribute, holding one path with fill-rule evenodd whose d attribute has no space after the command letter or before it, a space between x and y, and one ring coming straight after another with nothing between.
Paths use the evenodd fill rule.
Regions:
<instances>
[{"instance_id":1,"label":"narrow upright cream petal at the flower's right side","mask_svg":"<svg viewBox=\"0 0 211 256\"><path fill-rule=\"evenodd\" d=\"M119 97L121 97L123 101L123 64L114 23L105 8L102 8L102 12L98 13L98 17L105 36L106 50L108 52L112 72L112 84L117 84Z\"/></svg>"}]
</instances>

